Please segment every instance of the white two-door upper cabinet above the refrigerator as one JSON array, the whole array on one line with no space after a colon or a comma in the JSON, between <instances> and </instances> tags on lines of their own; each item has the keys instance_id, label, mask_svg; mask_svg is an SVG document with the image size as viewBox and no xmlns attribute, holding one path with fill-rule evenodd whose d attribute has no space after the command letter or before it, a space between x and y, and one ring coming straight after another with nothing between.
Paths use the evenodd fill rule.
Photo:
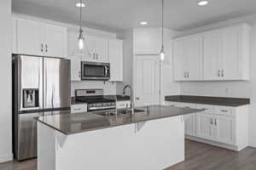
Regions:
<instances>
[{"instance_id":1,"label":"white two-door upper cabinet above the refrigerator","mask_svg":"<svg viewBox=\"0 0 256 170\"><path fill-rule=\"evenodd\" d=\"M13 25L13 53L67 57L67 28L20 18Z\"/></svg>"}]
</instances>

